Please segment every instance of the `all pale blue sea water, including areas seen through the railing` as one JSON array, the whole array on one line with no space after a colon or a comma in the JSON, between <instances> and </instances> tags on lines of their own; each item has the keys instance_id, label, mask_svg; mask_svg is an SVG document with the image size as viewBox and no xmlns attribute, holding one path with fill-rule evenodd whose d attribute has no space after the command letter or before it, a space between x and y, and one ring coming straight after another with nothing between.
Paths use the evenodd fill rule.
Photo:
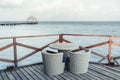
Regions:
<instances>
[{"instance_id":1,"label":"all pale blue sea water, including areas seen through the railing","mask_svg":"<svg viewBox=\"0 0 120 80\"><path fill-rule=\"evenodd\" d=\"M0 37L13 37L13 36L29 36L29 35L42 35L42 34L104 34L104 35L117 35L120 36L120 22L39 22L35 25L16 25L16 26L0 26ZM109 38L104 37L73 37L65 36L67 40L72 41L75 44L79 44L83 47L108 41ZM58 37L37 37L37 38L21 38L17 39L17 42L34 47L42 47ZM114 41L120 42L119 38L114 38ZM12 40L0 40L0 47L3 47ZM108 45L92 48L90 50L96 51L104 56L108 54ZM17 46L17 58L21 58L28 53L32 52L32 49L23 48ZM120 47L113 45L112 54L118 56ZM0 58L14 59L13 47L0 51ZM91 61L99 61L101 58L95 55L91 55ZM19 66L28 65L33 63L42 62L41 52L34 54L33 56L20 61ZM103 61L103 62L106 62ZM0 62L0 69L4 69L7 66L13 65L12 63Z\"/></svg>"}]
</instances>

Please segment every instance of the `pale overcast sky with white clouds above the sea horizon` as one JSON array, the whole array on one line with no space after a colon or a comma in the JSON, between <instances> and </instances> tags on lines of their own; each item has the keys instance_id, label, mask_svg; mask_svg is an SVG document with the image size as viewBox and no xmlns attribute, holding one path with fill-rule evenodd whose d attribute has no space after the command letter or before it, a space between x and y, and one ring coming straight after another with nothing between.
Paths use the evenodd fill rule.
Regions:
<instances>
[{"instance_id":1,"label":"pale overcast sky with white clouds above the sea horizon","mask_svg":"<svg viewBox=\"0 0 120 80\"><path fill-rule=\"evenodd\" d=\"M0 21L120 21L120 0L0 0Z\"/></svg>"}]
</instances>

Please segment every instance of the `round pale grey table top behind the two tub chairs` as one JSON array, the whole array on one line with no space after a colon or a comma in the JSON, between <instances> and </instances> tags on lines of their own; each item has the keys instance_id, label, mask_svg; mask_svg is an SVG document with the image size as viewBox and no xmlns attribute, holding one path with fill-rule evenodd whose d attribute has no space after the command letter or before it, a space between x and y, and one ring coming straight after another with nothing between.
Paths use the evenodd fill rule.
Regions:
<instances>
[{"instance_id":1,"label":"round pale grey table top behind the two tub chairs","mask_svg":"<svg viewBox=\"0 0 120 80\"><path fill-rule=\"evenodd\" d=\"M53 43L50 44L49 47L57 50L74 50L78 49L79 45L76 45L74 43Z\"/></svg>"}]
</instances>

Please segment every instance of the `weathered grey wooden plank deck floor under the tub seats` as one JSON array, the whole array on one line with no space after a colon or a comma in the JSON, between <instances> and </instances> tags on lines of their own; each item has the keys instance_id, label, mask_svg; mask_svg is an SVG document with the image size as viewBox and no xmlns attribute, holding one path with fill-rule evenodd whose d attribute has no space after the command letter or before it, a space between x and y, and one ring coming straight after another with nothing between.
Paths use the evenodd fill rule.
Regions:
<instances>
[{"instance_id":1,"label":"weathered grey wooden plank deck floor under the tub seats","mask_svg":"<svg viewBox=\"0 0 120 80\"><path fill-rule=\"evenodd\" d=\"M90 64L87 73L75 75L68 71L48 76L42 64L0 71L0 80L120 80L120 67Z\"/></svg>"}]
</instances>

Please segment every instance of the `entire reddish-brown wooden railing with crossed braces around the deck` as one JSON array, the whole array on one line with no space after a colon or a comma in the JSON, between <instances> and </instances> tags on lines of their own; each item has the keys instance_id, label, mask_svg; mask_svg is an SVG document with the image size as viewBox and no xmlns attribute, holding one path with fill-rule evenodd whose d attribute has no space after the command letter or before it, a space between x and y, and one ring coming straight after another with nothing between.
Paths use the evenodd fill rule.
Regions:
<instances>
[{"instance_id":1,"label":"entire reddish-brown wooden railing with crossed braces around the deck","mask_svg":"<svg viewBox=\"0 0 120 80\"><path fill-rule=\"evenodd\" d=\"M26 44L23 44L23 43L19 43L17 42L17 39L20 39L20 38L33 38L33 37L48 37L48 36L56 36L58 37L57 40L54 40L42 47L34 47L34 46L30 46L30 45L26 45ZM5 39L12 39L12 42L3 46L3 47L0 47L0 51L3 51L3 50L6 50L7 48L10 48L10 47L13 47L13 54L14 54L14 59L11 60L11 59L4 59L4 58L0 58L0 61L1 62L9 62L9 63L14 63L15 64L15 67L17 67L18 65L18 62L32 56L33 54L36 54L37 52L39 51L42 51L43 49L47 48L50 44L52 43L56 43L56 42L67 42L67 43L72 43L70 40L68 39L65 39L64 37L66 36L78 36L78 37L81 37L81 36L91 36L91 37L106 37L108 38L107 41L103 41L103 42L100 42L100 43L96 43L96 44L92 44L92 45L89 45L89 46L86 46L86 47L83 47L83 46L79 46L78 49L76 50L73 50L72 52L77 52L77 51L80 51L80 50L86 50L86 49L91 49L91 48L95 48L95 47L99 47L99 46L102 46L102 45L106 45L108 44L108 53L103 55L101 53L98 53L97 51L94 51L91 49L91 52L92 54L100 57L101 59L99 61L94 61L94 63L102 63L103 60L107 60L108 64L111 63L111 61L113 61L114 63L116 63L117 65L119 65L119 63L117 62L117 59L120 59L120 56L116 56L116 57L113 57L112 56L112 45L117 45L117 46L120 46L120 43L119 42L114 42L113 41L113 38L120 38L120 36L112 36L112 35L94 35L94 34L49 34L49 35L35 35L35 36L16 36L16 37L2 37L0 38L0 40L5 40ZM83 41L84 42L84 41ZM21 46L21 47L24 47L24 48L28 48L28 49L33 49L32 52L28 53L27 55L24 55L23 57L19 58L18 59L18 54L17 54L17 46Z\"/></svg>"}]
</instances>

